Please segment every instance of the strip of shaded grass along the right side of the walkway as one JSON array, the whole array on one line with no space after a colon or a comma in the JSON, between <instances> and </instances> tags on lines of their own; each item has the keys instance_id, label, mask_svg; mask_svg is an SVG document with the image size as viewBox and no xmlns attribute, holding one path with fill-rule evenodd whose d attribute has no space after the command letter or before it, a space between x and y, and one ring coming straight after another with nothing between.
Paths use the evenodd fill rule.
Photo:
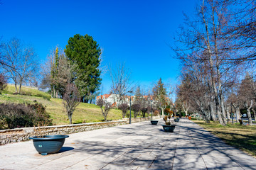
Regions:
<instances>
[{"instance_id":1,"label":"strip of shaded grass along the right side of the walkway","mask_svg":"<svg viewBox=\"0 0 256 170\"><path fill-rule=\"evenodd\" d=\"M193 120L209 132L220 137L223 141L256 157L256 126L228 123L223 126L211 121L209 124L203 120Z\"/></svg>"}]
</instances>

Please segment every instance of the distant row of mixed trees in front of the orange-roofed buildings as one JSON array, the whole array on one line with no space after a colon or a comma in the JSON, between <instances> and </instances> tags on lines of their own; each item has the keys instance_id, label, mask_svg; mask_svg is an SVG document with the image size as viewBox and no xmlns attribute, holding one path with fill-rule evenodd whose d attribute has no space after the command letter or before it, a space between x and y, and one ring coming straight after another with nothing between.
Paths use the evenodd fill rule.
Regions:
<instances>
[{"instance_id":1,"label":"distant row of mixed trees in front of the orange-roofed buildings","mask_svg":"<svg viewBox=\"0 0 256 170\"><path fill-rule=\"evenodd\" d=\"M117 104L117 108L122 110L123 118L127 113L129 108L129 91L134 92L134 97L132 98L131 109L134 111L134 117L137 117L137 114L142 112L143 116L145 113L151 112L151 101L153 102L154 110L161 110L161 114L164 114L166 107L172 107L172 101L170 99L171 95L174 93L173 88L170 87L170 90L167 93L166 86L162 82L161 78L159 81L154 83L153 88L148 90L142 89L140 86L137 86L135 89L135 84L131 81L129 69L125 67L125 64L119 64L119 66L114 69L110 67L110 77L112 79L111 91L110 94L114 94L114 103ZM148 114L149 115L149 114Z\"/></svg>"}]
</instances>

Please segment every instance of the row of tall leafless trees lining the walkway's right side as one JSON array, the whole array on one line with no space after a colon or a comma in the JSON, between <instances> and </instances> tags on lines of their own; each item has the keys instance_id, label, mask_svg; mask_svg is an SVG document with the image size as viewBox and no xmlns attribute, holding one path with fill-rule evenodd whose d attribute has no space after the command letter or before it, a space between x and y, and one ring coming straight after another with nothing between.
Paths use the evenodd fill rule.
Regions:
<instances>
[{"instance_id":1,"label":"row of tall leafless trees lining the walkway's right side","mask_svg":"<svg viewBox=\"0 0 256 170\"><path fill-rule=\"evenodd\" d=\"M176 56L183 65L177 101L185 112L200 113L207 123L226 125L230 113L255 108L255 1L203 0L195 18L176 36Z\"/></svg>"}]
</instances>

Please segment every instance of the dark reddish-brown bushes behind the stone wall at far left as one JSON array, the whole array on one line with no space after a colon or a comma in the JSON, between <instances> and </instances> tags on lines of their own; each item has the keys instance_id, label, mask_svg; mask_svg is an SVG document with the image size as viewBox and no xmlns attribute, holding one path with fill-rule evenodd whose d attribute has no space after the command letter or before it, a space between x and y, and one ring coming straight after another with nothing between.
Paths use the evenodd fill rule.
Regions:
<instances>
[{"instance_id":1,"label":"dark reddish-brown bushes behind the stone wall at far left","mask_svg":"<svg viewBox=\"0 0 256 170\"><path fill-rule=\"evenodd\" d=\"M0 128L33 127L38 124L52 125L50 115L41 103L35 104L0 104Z\"/></svg>"}]
</instances>

